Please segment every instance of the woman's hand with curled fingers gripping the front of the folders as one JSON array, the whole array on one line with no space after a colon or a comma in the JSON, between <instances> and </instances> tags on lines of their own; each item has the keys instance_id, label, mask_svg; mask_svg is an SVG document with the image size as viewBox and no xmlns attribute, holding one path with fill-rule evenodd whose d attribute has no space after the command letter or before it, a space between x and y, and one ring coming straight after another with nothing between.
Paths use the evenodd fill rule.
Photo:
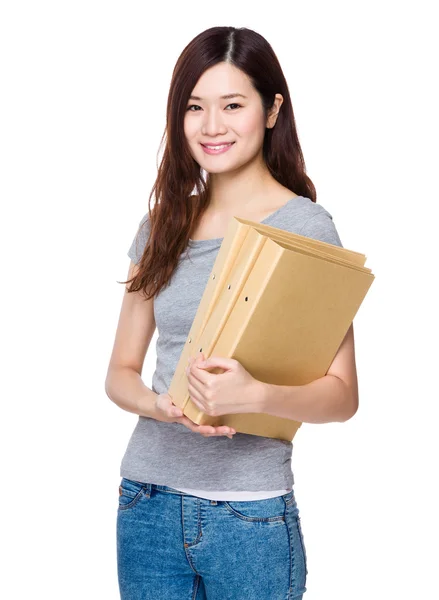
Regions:
<instances>
[{"instance_id":1,"label":"woman's hand with curled fingers gripping the front of the folders","mask_svg":"<svg viewBox=\"0 0 439 600\"><path fill-rule=\"evenodd\" d=\"M220 367L225 371L209 373L207 369L213 367ZM219 417L261 412L260 382L234 358L211 356L204 360L201 352L196 359L190 359L186 375L190 398L206 415Z\"/></svg>"}]
</instances>

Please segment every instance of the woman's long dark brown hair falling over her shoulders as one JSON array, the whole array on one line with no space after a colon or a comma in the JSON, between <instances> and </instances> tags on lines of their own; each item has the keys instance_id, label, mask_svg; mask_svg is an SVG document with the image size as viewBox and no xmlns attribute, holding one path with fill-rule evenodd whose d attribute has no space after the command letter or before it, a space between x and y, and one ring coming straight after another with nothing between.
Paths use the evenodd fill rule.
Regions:
<instances>
[{"instance_id":1,"label":"woman's long dark brown hair falling over her shoulders","mask_svg":"<svg viewBox=\"0 0 439 600\"><path fill-rule=\"evenodd\" d=\"M288 85L267 40L245 27L211 27L197 35L175 65L166 107L164 153L148 200L149 236L128 292L151 298L168 283L192 231L209 204L209 174L190 154L184 133L189 96L201 75L227 62L241 69L259 93L265 118L275 95L283 103L273 128L265 130L263 157L272 176L294 193L316 202L316 190L306 174ZM192 195L196 191L196 195ZM155 195L151 210L151 198ZM139 235L140 229L137 232Z\"/></svg>"}]
</instances>

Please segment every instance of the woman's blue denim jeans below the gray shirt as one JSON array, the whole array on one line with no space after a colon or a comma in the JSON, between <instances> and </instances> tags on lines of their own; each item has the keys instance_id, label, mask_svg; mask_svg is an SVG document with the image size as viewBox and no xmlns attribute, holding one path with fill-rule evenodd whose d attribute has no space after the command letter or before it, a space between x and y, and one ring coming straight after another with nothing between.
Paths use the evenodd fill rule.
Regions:
<instances>
[{"instance_id":1,"label":"woman's blue denim jeans below the gray shirt","mask_svg":"<svg viewBox=\"0 0 439 600\"><path fill-rule=\"evenodd\" d=\"M294 490L224 501L122 478L121 600L301 600L306 550Z\"/></svg>"}]
</instances>

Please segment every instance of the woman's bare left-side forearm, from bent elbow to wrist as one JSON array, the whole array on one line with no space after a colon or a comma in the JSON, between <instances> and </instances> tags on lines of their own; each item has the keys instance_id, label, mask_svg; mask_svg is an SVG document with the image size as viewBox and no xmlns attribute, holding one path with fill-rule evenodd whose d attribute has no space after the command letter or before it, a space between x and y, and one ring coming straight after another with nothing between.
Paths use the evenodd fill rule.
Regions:
<instances>
[{"instance_id":1,"label":"woman's bare left-side forearm, from bent elbow to wrist","mask_svg":"<svg viewBox=\"0 0 439 600\"><path fill-rule=\"evenodd\" d=\"M119 408L141 417L156 417L157 394L142 381L139 373L128 367L109 369L105 380L105 392Z\"/></svg>"}]
</instances>

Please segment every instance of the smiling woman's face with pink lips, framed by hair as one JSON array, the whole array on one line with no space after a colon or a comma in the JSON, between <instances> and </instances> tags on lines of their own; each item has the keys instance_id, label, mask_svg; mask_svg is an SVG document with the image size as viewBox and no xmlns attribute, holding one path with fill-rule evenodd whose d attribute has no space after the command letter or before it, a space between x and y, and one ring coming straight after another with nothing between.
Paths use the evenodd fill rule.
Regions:
<instances>
[{"instance_id":1,"label":"smiling woman's face with pink lips, framed by hair","mask_svg":"<svg viewBox=\"0 0 439 600\"><path fill-rule=\"evenodd\" d=\"M262 151L265 128L261 98L245 73L225 62L203 73L184 119L189 149L200 167L225 173L245 165ZM231 145L209 153L206 144Z\"/></svg>"}]
</instances>

